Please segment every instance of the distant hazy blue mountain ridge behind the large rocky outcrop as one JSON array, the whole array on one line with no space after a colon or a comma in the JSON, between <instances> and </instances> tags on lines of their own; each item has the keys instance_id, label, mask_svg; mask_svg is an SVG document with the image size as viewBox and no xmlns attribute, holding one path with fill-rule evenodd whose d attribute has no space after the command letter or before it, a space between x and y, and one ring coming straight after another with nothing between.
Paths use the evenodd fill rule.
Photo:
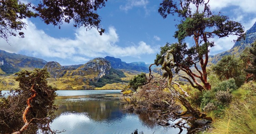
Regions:
<instances>
[{"instance_id":1,"label":"distant hazy blue mountain ridge behind the large rocky outcrop","mask_svg":"<svg viewBox=\"0 0 256 134\"><path fill-rule=\"evenodd\" d=\"M135 70L135 71L145 72L145 73L149 72L148 67L150 66L150 64L146 64L143 61L126 63L119 58L110 57L110 56L106 56L105 59L111 63L111 66L114 69ZM154 68L155 66L151 67L152 70Z\"/></svg>"}]
</instances>

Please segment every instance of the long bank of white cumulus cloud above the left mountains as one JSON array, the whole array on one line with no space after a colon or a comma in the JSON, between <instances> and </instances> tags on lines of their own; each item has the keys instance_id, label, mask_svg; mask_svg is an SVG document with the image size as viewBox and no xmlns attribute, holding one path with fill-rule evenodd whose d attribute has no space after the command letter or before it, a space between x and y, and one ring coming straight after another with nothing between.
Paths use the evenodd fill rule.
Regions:
<instances>
[{"instance_id":1,"label":"long bank of white cumulus cloud above the left mountains","mask_svg":"<svg viewBox=\"0 0 256 134\"><path fill-rule=\"evenodd\" d=\"M117 45L119 38L114 27L109 27L102 36L96 29L86 31L85 28L79 28L75 31L75 38L69 39L54 38L37 29L31 21L24 21L28 24L27 30L24 31L25 38L11 37L11 45L0 39L0 49L11 53L25 51L35 57L56 57L77 62L105 55L140 57L143 54L155 53L155 50L143 41L128 47Z\"/></svg>"}]
</instances>

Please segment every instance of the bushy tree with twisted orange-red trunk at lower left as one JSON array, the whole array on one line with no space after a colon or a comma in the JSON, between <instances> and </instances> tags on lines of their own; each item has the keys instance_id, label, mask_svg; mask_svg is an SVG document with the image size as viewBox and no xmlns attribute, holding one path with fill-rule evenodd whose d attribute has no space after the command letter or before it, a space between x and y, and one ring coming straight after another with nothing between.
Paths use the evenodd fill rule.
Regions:
<instances>
[{"instance_id":1,"label":"bushy tree with twisted orange-red trunk at lower left","mask_svg":"<svg viewBox=\"0 0 256 134\"><path fill-rule=\"evenodd\" d=\"M57 88L47 85L47 69L23 70L15 74L19 88L11 90L7 98L0 94L0 133L35 134L38 130L56 133L49 128L49 123L56 117Z\"/></svg>"}]
</instances>

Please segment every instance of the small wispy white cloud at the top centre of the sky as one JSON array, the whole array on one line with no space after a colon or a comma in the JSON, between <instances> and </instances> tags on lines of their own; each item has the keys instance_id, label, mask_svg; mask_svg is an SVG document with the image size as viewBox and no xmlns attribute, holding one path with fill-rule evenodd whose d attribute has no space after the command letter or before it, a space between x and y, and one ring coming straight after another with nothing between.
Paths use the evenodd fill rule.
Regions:
<instances>
[{"instance_id":1,"label":"small wispy white cloud at the top centre of the sky","mask_svg":"<svg viewBox=\"0 0 256 134\"><path fill-rule=\"evenodd\" d=\"M146 7L147 4L148 4L148 0L127 0L127 3L125 5L120 5L119 8L127 12L133 7L143 7L147 12L147 7Z\"/></svg>"}]
</instances>

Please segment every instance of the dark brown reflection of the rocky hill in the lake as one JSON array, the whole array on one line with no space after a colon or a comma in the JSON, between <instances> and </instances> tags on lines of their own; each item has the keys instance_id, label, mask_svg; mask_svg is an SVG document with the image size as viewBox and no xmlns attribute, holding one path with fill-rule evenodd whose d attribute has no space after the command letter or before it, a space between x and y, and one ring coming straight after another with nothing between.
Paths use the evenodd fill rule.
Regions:
<instances>
[{"instance_id":1,"label":"dark brown reflection of the rocky hill in the lake","mask_svg":"<svg viewBox=\"0 0 256 134\"><path fill-rule=\"evenodd\" d=\"M60 97L55 101L55 104L59 105L55 114L59 116L64 112L87 113L95 121L113 120L123 115L117 102L117 99L101 99L99 101L95 98Z\"/></svg>"}]
</instances>

